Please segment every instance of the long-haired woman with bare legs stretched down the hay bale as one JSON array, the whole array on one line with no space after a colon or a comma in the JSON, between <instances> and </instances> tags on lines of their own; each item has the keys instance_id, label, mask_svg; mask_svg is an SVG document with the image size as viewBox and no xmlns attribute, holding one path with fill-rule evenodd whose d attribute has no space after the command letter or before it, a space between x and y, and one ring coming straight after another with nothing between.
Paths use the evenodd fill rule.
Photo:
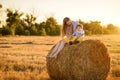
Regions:
<instances>
[{"instance_id":1,"label":"long-haired woman with bare legs stretched down the hay bale","mask_svg":"<svg viewBox=\"0 0 120 80\"><path fill-rule=\"evenodd\" d=\"M71 21L68 17L65 17L63 19L62 40L60 40L56 44L52 52L47 57L57 57L58 53L64 48L65 44L69 42L69 39L72 37L72 34L76 31L76 26L78 24L78 22Z\"/></svg>"}]
</instances>

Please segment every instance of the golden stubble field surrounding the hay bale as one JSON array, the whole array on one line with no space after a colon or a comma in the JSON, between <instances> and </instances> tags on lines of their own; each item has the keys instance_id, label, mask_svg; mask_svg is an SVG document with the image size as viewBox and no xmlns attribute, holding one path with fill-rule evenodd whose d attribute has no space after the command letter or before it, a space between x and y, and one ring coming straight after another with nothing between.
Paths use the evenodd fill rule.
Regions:
<instances>
[{"instance_id":1,"label":"golden stubble field surrounding the hay bale","mask_svg":"<svg viewBox=\"0 0 120 80\"><path fill-rule=\"evenodd\" d=\"M60 37L0 37L0 80L49 80L46 55ZM108 47L111 72L108 79L120 80L120 35L86 36Z\"/></svg>"}]
</instances>

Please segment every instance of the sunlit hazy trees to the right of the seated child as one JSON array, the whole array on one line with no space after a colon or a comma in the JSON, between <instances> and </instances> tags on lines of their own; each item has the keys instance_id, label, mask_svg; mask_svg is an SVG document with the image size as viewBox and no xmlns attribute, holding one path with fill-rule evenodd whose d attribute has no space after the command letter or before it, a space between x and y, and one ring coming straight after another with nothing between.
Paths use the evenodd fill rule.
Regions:
<instances>
[{"instance_id":1,"label":"sunlit hazy trees to the right of the seated child","mask_svg":"<svg viewBox=\"0 0 120 80\"><path fill-rule=\"evenodd\" d=\"M86 35L119 33L118 27L114 26L113 24L102 26L100 21L83 22L80 19L78 20L78 22L84 25L84 30Z\"/></svg>"}]
</instances>

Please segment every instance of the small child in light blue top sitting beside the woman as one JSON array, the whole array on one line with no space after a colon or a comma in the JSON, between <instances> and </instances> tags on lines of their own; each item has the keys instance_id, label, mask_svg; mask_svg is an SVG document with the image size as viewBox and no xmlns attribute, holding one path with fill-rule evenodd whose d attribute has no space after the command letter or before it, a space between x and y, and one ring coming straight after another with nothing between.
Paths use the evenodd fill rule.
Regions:
<instances>
[{"instance_id":1,"label":"small child in light blue top sitting beside the woman","mask_svg":"<svg viewBox=\"0 0 120 80\"><path fill-rule=\"evenodd\" d=\"M85 32L83 30L83 25L77 25L76 26L76 31L72 34L72 38L70 39L69 44L73 44L73 43L78 43L80 41L83 40L83 37L85 35Z\"/></svg>"}]
</instances>

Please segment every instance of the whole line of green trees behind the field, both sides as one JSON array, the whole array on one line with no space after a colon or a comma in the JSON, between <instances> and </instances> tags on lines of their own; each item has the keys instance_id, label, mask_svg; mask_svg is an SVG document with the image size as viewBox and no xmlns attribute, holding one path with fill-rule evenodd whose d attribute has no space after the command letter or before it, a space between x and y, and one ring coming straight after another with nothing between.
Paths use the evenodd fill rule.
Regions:
<instances>
[{"instance_id":1,"label":"whole line of green trees behind the field, both sides","mask_svg":"<svg viewBox=\"0 0 120 80\"><path fill-rule=\"evenodd\" d=\"M0 6L2 8L2 6ZM62 25L58 24L54 17L49 17L46 21L36 23L37 17L32 14L20 13L18 10L6 10L6 25L0 28L0 35L39 35L39 36L58 36L61 33ZM23 17L23 18L22 18ZM93 34L118 34L119 28L113 24L107 26L101 25L100 21L84 22L78 20L84 25L86 35Z\"/></svg>"}]
</instances>

